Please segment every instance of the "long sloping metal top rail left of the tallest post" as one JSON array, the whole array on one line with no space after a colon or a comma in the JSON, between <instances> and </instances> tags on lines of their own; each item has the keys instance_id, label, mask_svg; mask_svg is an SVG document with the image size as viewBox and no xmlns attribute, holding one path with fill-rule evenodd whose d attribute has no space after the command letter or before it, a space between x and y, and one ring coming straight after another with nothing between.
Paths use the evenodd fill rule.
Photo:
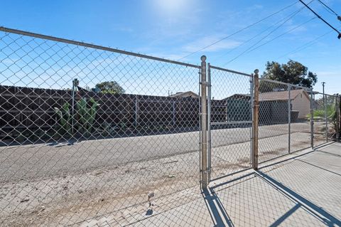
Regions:
<instances>
[{"instance_id":1,"label":"long sloping metal top rail left of the tallest post","mask_svg":"<svg viewBox=\"0 0 341 227\"><path fill-rule=\"evenodd\" d=\"M72 41L70 39L66 39L66 38L58 38L55 36L46 36L43 34L39 34L39 33L32 33L32 32L28 32L28 31L21 31L18 29L13 29L13 28L6 28L3 26L0 26L0 31L6 32L6 33L15 33L18 35L22 35L22 36L31 36L33 38L42 38L42 39L46 39L46 40L50 40L50 41L56 41L56 42L60 42L60 43L68 43L68 44L72 44L72 45L77 45L77 46L84 46L87 48L94 48L94 49L98 49L98 50L102 50L102 51L110 51L110 52L114 52L114 53L121 53L121 54L126 54L129 56L135 56L138 58L146 58L146 59L151 59L151 60L158 60L158 61L162 61L165 63L173 63L173 64L177 64L177 65L184 65L187 67L192 67L192 68L200 68L200 65L193 65L190 63L183 63L177 60L168 60L165 58L158 58L158 57L153 57L153 56L147 56L144 54L140 54L140 53L134 53L134 52L130 52L130 51L123 51L123 50L119 50L117 48L110 48L110 47L106 47L106 46L99 46L99 45L94 45L91 43L84 43L84 42L80 42L80 41Z\"/></svg>"}]
</instances>

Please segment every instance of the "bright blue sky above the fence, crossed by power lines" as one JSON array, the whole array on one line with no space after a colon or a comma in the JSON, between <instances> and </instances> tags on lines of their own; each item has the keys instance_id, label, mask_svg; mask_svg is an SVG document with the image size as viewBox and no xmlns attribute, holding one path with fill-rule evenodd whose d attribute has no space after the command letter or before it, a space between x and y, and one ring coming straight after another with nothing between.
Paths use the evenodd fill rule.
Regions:
<instances>
[{"instance_id":1,"label":"bright blue sky above the fence, crossed by power lines","mask_svg":"<svg viewBox=\"0 0 341 227\"><path fill-rule=\"evenodd\" d=\"M6 10L0 14L0 26L177 60L295 2L12 0L1 1L2 9ZM341 0L324 2L341 14ZM305 23L314 17L308 9L299 11L296 16L286 21L288 15L298 11L302 6L298 2L256 26L183 58L183 61L199 64L200 56L205 54L207 62L212 65L251 73L254 68L259 68L262 72L267 60L286 63L290 58L298 60L318 74L315 90L322 91L321 82L325 81L327 93L341 93L341 40L337 39L336 32L328 33L308 48L291 53L305 43L331 31L318 19ZM341 22L318 4L317 0L310 6L341 30ZM283 23L284 21L286 23ZM274 24L278 26L281 23L283 26L271 35L264 37L266 33L261 33L266 29L269 33L275 28ZM301 23L305 24L296 28ZM264 40L258 45L282 33L286 35L239 56L262 38ZM253 40L239 46L253 37L255 37ZM237 56L239 56L237 59L229 63Z\"/></svg>"}]
</instances>

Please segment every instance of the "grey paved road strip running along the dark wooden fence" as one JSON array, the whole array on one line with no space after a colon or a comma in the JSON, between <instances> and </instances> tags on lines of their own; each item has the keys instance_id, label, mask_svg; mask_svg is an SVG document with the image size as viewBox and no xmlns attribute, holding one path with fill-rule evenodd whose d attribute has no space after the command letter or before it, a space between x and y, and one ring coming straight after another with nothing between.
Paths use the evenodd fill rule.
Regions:
<instances>
[{"instance_id":1,"label":"grey paved road strip running along the dark wooden fence","mask_svg":"<svg viewBox=\"0 0 341 227\"><path fill-rule=\"evenodd\" d=\"M292 132L308 132L308 123L291 125ZM287 125L259 127L259 138L288 132ZM212 131L212 147L247 142L249 128ZM0 148L0 181L65 176L99 168L114 168L127 162L173 156L199 150L199 132L162 134L76 142ZM284 139L283 143L287 143Z\"/></svg>"}]
</instances>

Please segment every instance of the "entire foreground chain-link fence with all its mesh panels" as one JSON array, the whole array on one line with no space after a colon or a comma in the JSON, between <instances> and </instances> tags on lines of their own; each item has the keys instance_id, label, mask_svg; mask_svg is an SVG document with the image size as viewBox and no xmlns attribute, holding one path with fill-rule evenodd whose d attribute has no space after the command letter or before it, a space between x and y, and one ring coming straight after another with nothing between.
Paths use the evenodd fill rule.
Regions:
<instances>
[{"instance_id":1,"label":"entire foreground chain-link fence with all its mesh panels","mask_svg":"<svg viewBox=\"0 0 341 227\"><path fill-rule=\"evenodd\" d=\"M337 138L338 96L254 80L1 27L0 225L210 225L200 181L250 169L255 138L259 162Z\"/></svg>"}]
</instances>

